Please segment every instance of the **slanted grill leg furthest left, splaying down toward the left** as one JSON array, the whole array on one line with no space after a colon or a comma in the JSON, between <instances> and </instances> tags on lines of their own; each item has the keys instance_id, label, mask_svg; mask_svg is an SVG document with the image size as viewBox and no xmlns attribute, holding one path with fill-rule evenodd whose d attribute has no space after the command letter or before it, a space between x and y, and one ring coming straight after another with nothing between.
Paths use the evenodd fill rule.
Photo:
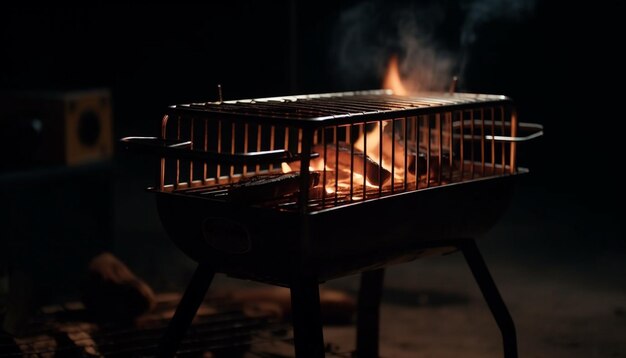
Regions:
<instances>
[{"instance_id":1,"label":"slanted grill leg furthest left, splaying down toward the left","mask_svg":"<svg viewBox=\"0 0 626 358\"><path fill-rule=\"evenodd\" d=\"M215 271L209 265L203 263L198 265L183 298L176 308L174 317L172 317L167 326L165 335L161 338L158 357L169 358L176 354L180 342L187 334L191 321L204 300L211 281L213 281L213 276L215 276Z\"/></svg>"}]
</instances>

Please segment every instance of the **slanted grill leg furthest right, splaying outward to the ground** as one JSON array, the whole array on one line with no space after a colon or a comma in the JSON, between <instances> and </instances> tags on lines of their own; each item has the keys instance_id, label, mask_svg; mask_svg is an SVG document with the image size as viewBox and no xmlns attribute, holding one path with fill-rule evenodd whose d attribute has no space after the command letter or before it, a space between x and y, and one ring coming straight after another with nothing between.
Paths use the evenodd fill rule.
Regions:
<instances>
[{"instance_id":1,"label":"slanted grill leg furthest right, splaying outward to the ground","mask_svg":"<svg viewBox=\"0 0 626 358\"><path fill-rule=\"evenodd\" d=\"M458 247L463 252L465 260L472 270L474 279L476 283L478 283L483 297L485 301L487 301L487 305L489 305L491 314L493 314L500 328L504 345L504 357L517 358L517 338L513 318L511 318L511 314L506 308L496 284L493 282L493 278L489 273L485 260L478 250L478 246L476 246L476 242L474 240L467 240L458 245Z\"/></svg>"}]
</instances>

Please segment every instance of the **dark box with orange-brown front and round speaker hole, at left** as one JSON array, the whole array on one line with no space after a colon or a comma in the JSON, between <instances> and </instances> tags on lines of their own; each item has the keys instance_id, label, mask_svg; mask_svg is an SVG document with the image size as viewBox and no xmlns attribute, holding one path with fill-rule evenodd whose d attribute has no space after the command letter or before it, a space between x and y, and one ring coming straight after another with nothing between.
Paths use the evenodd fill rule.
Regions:
<instances>
[{"instance_id":1,"label":"dark box with orange-brown front and round speaker hole, at left","mask_svg":"<svg viewBox=\"0 0 626 358\"><path fill-rule=\"evenodd\" d=\"M107 89L4 93L3 163L8 169L28 169L107 160L113 153L111 112Z\"/></svg>"}]
</instances>

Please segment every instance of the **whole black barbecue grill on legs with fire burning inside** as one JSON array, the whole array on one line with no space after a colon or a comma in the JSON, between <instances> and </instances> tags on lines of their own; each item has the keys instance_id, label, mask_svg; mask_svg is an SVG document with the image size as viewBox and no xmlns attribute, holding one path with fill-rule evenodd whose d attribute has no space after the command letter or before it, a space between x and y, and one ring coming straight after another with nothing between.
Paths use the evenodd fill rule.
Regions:
<instances>
[{"instance_id":1,"label":"whole black barbecue grill on legs with fire burning inside","mask_svg":"<svg viewBox=\"0 0 626 358\"><path fill-rule=\"evenodd\" d=\"M528 172L518 143L540 135L500 95L373 90L169 107L160 138L122 139L158 158L149 190L161 222L199 263L162 355L175 354L219 272L289 287L296 355L323 356L318 285L362 273L357 352L377 357L384 267L460 250L516 357L473 238Z\"/></svg>"}]
</instances>

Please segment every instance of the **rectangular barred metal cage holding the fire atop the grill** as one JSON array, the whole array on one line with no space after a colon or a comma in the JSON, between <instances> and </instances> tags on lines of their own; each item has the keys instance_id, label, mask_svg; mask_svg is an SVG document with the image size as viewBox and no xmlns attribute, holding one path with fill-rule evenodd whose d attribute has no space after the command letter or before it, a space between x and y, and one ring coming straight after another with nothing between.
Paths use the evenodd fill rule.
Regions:
<instances>
[{"instance_id":1,"label":"rectangular barred metal cage holding the fire atop the grill","mask_svg":"<svg viewBox=\"0 0 626 358\"><path fill-rule=\"evenodd\" d=\"M391 162L395 164L387 167L392 184L366 184L365 154L355 159L355 133L372 133L372 127L380 142L391 142ZM516 174L517 144L513 139L517 133L513 102L501 95L431 93L410 97L374 90L175 105L163 117L161 139L187 143L194 155L161 158L155 189L220 200L225 189L239 181L280 173L280 162L285 161L299 164L299 196L254 205L315 212L433 186ZM328 164L339 163L340 142L350 147L345 190L338 187L340 170L327 169ZM365 148L360 151L368 153L367 140L361 142ZM320 145L323 150L316 151ZM334 147L335 158L329 157L329 146ZM395 146L403 148L400 153ZM379 146L376 160L379 168L383 167L382 148ZM243 156L227 158L227 164L221 157L203 159L203 154L209 153L237 156L281 150L284 155L276 156L280 160L263 163L252 156L250 161ZM319 156L310 158L307 153L312 152ZM402 159L399 165L398 157ZM363 163L360 183L353 175L358 160ZM325 165L316 175L323 189L318 185L313 197L307 169L311 162L320 161ZM417 175L409 173L411 164ZM398 172L402 172L400 178L396 178ZM380 178L380 172L378 175ZM333 181L334 188L332 184L328 188Z\"/></svg>"}]
</instances>

